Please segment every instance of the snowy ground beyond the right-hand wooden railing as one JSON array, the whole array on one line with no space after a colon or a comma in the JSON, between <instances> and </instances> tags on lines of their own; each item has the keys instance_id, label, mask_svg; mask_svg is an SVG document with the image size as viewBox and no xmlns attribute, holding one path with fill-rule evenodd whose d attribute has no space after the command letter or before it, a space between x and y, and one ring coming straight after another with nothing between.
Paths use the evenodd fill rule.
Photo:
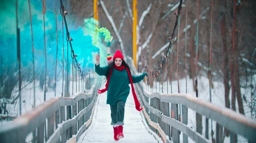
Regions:
<instances>
[{"instance_id":1,"label":"snowy ground beyond the right-hand wooden railing","mask_svg":"<svg viewBox=\"0 0 256 143\"><path fill-rule=\"evenodd\" d=\"M179 87L180 87L180 93L186 93L186 79L180 79L179 80ZM159 90L160 89L160 90ZM155 84L154 82L154 87L151 89L147 87L147 90L151 92L162 92L162 85L160 84L159 88L159 82ZM172 88L171 88L171 82L168 81L168 93L178 93L178 86L177 86L177 80L172 81ZM163 93L167 93L167 82L163 83ZM193 90L193 81L192 79L187 78L187 93L190 95L195 95L195 92ZM244 88L241 88L241 94L245 95L248 101L251 101L251 95L250 95L250 89L245 90ZM209 100L209 80L206 77L199 77L198 76L198 98L203 99L205 101L210 101ZM231 92L230 92L230 101L231 101ZM216 104L220 107L225 107L225 97L224 97L224 84L221 82L216 82L213 81L213 87L212 87L212 103ZM244 105L247 105L244 102ZM238 107L238 104L236 102L236 108ZM246 116L248 118L251 118L250 115L250 107L244 107L244 111ZM205 136L205 116L202 116L202 125L203 125L203 136ZM195 111L192 109L188 108L188 126L190 126L192 129L196 128L196 120L195 120ZM211 140L211 128L213 129L213 132L216 133L216 122L212 121L212 126L211 126L211 120L209 120L209 138ZM195 129L196 130L196 129ZM214 138L216 135L214 134ZM182 142L182 134L180 135L181 143ZM238 137L238 143L247 143L247 139L244 137L239 136ZM193 140L189 139L189 143L195 143ZM224 138L224 143L230 143L230 137L225 137Z\"/></svg>"}]
</instances>

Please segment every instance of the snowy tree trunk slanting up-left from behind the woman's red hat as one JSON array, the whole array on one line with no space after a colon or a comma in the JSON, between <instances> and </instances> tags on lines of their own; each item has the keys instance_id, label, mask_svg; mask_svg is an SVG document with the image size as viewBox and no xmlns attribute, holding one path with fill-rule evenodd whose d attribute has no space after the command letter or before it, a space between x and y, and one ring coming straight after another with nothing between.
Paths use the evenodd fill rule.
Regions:
<instances>
[{"instance_id":1,"label":"snowy tree trunk slanting up-left from behind the woman's red hat","mask_svg":"<svg viewBox=\"0 0 256 143\"><path fill-rule=\"evenodd\" d=\"M114 30L114 32L115 32L115 34L116 34L116 37L117 37L118 41L120 42L120 47L121 47L121 50L122 50L122 54L123 54L123 56L124 56L124 59L126 60L124 45L123 45L121 36L119 35L119 33L118 33L117 29L116 29L115 22L114 22L113 18L108 14L108 10L107 10L107 8L106 8L104 2L103 2L102 0L100 0L99 2L100 2L100 4L102 5L103 11L105 12L105 14L106 14L106 16L107 16L109 22L110 22L111 25L112 25L112 28L113 28L113 30Z\"/></svg>"}]
</instances>

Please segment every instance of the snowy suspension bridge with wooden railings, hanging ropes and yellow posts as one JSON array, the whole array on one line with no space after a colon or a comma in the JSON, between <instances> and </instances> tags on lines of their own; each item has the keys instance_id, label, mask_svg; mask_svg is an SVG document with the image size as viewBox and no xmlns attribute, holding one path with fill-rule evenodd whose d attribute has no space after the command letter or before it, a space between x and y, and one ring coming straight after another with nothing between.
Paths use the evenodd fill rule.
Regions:
<instances>
[{"instance_id":1,"label":"snowy suspension bridge with wooden railings, hanging ropes and yellow posts","mask_svg":"<svg viewBox=\"0 0 256 143\"><path fill-rule=\"evenodd\" d=\"M136 9L136 0L134 0ZM103 3L102 0L99 1ZM30 3L30 0L29 0ZM43 14L45 14L45 3L43 0ZM0 128L0 142L1 143L25 143L28 142L27 138L32 136L32 143L114 143L113 140L113 128L110 126L111 117L110 109L106 101L106 95L98 95L97 90L101 89L105 83L102 83L103 78L97 76L94 73L94 68L84 70L78 63L77 56L72 47L73 39L70 37L68 31L68 25L66 17L67 11L64 10L62 0L61 3L61 16L62 16L62 29L66 28L66 39L67 39L67 55L69 56L69 50L71 51L72 61L72 94L69 96L68 93L64 92L64 65L63 65L63 81L62 91L58 93L56 91L56 68L55 68L55 96L49 100L46 100L46 90L44 90L44 102L35 106L29 112L21 114L13 121L7 122ZM225 131L230 132L229 141L230 143L236 143L237 137L242 137L248 141L248 143L256 142L256 121L248 118L232 109L218 106L210 101L198 98L198 74L196 73L196 93L191 95L188 93L188 87L191 83L186 81L179 83L179 75L177 75L177 93L168 93L169 87L168 78L166 86L160 84L160 80L165 74L163 72L164 67L168 63L172 64L172 46L175 39L175 29L178 26L177 41L179 43L180 33L180 12L183 0L177 5L178 10L175 12L176 21L175 28L172 35L169 37L169 44L166 46L166 53L162 59L161 64L157 67L157 70L149 69L143 60L143 69L148 72L149 78L155 81L155 90L150 88L148 85L148 79L140 83L134 84L137 96L140 104L143 107L141 112L135 110L132 96L129 95L127 104L125 105L125 125L124 125L124 138L118 142L122 143L223 143L225 138ZM56 4L56 0L55 0ZM199 0L198 0L199 4ZM212 0L213 5L213 0ZM187 0L186 0L187 6ZM16 0L17 8L17 0ZM212 9L212 8L211 8ZM30 10L30 5L29 5ZM56 11L56 7L55 7ZM97 0L94 0L94 19L97 19ZM136 10L135 10L136 12ZM197 11L198 12L198 11ZM17 14L17 13L16 13ZM31 11L30 11L31 16ZM197 13L197 28L199 21L199 12ZM187 17L187 8L186 8ZM30 17L30 22L32 20ZM137 22L137 17L134 19ZM56 22L57 25L57 22ZM212 21L211 21L212 25ZM136 26L135 26L136 27ZM187 28L187 22L186 26ZM45 30L45 23L44 23ZM136 31L136 29L135 29ZM198 32L198 31L197 31ZM32 26L31 26L31 34ZM63 31L62 31L62 35ZM56 35L58 36L58 34ZM19 28L17 27L17 42L19 41ZM45 38L45 35L44 35ZM198 33L197 33L198 38ZM58 38L57 38L58 39ZM63 36L64 39L64 36ZM33 39L32 39L33 41ZM63 40L64 41L64 40ZM186 40L185 40L186 42ZM58 43L58 42L57 42ZM133 44L136 45L136 36ZM197 39L198 44L198 39ZM64 42L63 42L64 45ZM64 46L63 46L64 47ZM136 46L134 46L136 47ZM179 47L179 46L178 46ZM32 44L33 48L33 44ZM212 44L210 46L212 48ZM20 63L18 45L18 56L17 61ZM44 43L44 49L46 46ZM137 48L135 48L137 49ZM177 50L179 50L177 48ZM197 45L198 50L198 45ZM57 45L58 51L58 45ZM34 50L33 50L34 52ZM64 53L64 52L63 52ZM177 51L177 53L179 53ZM56 53L58 54L58 53ZM45 52L45 57L47 56ZM64 56L64 55L63 55ZM68 57L67 56L67 57ZM186 56L186 54L185 54ZM178 56L177 56L178 58ZM185 57L186 58L186 57ZM198 53L196 55L196 63L198 63ZM211 58L211 56L210 56ZM34 55L33 55L34 59ZM46 59L46 58L45 58ZM131 73L133 75L139 75L137 70L136 52L132 57L125 56L126 62L131 66ZM169 61L171 59L171 61ZM64 60L64 58L63 58ZM67 62L68 62L67 58ZM47 62L47 60L45 60ZM211 59L210 59L211 62ZM33 63L34 64L34 63ZM177 59L178 64L178 59ZM211 64L210 64L211 65ZM35 65L34 65L35 67ZM57 58L56 58L57 67ZM178 66L177 66L178 68ZM197 64L196 64L197 72ZM209 67L210 69L211 67ZM83 71L84 70L84 71ZM45 64L45 71L47 71L47 64ZM177 69L178 71L178 69ZM209 70L211 71L211 70ZM172 71L170 71L172 76ZM169 71L167 68L167 77ZM178 73L178 72L177 72ZM19 64L19 77L20 75L20 64ZM34 68L35 74L35 68ZM210 73L211 74L211 73ZM47 79L47 73L45 72L45 81ZM78 80L77 80L78 79ZM211 78L209 78L211 79ZM67 80L68 81L68 80ZM77 82L78 81L78 82ZM159 83L157 84L157 82ZM74 84L74 82L76 82ZM174 81L169 81L174 82ZM209 81L211 83L211 81ZM35 85L35 75L34 75ZM74 87L76 86L76 88ZM159 87L158 87L159 85ZM172 85L172 84L171 84ZM71 85L66 84L67 89ZM185 87L185 90L180 88ZM209 84L209 94L211 96L211 84ZM46 82L44 83L46 87ZM166 90L167 88L167 90ZM233 87L232 87L233 88ZM184 88L183 88L184 89ZM21 90L21 79L19 78L19 96ZM71 89L69 89L71 91ZM34 96L35 86L34 86ZM61 95L61 96L58 96ZM207 96L208 96L207 95ZM206 95L205 95L206 96ZM21 102L21 99L19 99ZM35 105L35 103L34 103ZM191 117L192 116L192 117ZM204 116L203 125L202 116ZM195 117L195 118L194 118ZM190 120L195 120L196 124L190 126ZM209 121L211 123L209 123ZM192 122L192 121L191 121ZM210 125L210 129L209 129ZM204 126L204 128L203 128ZM204 129L204 131L203 131ZM210 130L210 131L209 131ZM204 132L204 133L203 133Z\"/></svg>"}]
</instances>

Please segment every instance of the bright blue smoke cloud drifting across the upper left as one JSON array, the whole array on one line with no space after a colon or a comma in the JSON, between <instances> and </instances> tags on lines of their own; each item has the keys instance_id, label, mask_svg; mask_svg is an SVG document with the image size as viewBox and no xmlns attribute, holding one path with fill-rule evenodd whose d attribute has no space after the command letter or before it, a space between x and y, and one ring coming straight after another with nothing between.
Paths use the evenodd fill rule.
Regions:
<instances>
[{"instance_id":1,"label":"bright blue smoke cloud drifting across the upper left","mask_svg":"<svg viewBox=\"0 0 256 143\"><path fill-rule=\"evenodd\" d=\"M55 25L55 0L47 0L45 14L45 35L47 48L47 74L54 78L55 60L56 60L56 25ZM16 14L15 0L3 0L0 5L0 75L3 75L3 69L17 64L17 35L16 35ZM45 50L44 50L44 29L42 2L39 0L31 0L32 13L32 29L34 40L34 56L36 74L44 70ZM85 67L93 66L92 53L97 52L99 48L93 46L92 37L85 35L82 28L75 29L73 22L69 20L72 15L67 15L67 26L72 37L72 46L76 59L83 70ZM29 5L28 0L18 0L18 25L20 28L20 61L22 68L32 69L32 36L29 21ZM71 49L67 47L66 28L64 24L64 47L62 45L62 18L60 14L60 2L57 0L57 34L58 34L58 64L57 72L62 71L63 58L67 62L69 56L69 64L71 65ZM64 48L64 57L63 57ZM67 48L69 54L67 55ZM71 67L70 67L71 68ZM66 70L66 69L65 69ZM32 71L29 71L32 73Z\"/></svg>"}]
</instances>

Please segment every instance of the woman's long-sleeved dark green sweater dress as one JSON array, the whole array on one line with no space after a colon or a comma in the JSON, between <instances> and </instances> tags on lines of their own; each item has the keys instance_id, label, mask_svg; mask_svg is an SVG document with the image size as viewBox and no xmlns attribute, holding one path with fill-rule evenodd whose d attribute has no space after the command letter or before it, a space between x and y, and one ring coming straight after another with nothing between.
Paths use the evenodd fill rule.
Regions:
<instances>
[{"instance_id":1,"label":"woman's long-sleeved dark green sweater dress","mask_svg":"<svg viewBox=\"0 0 256 143\"><path fill-rule=\"evenodd\" d=\"M106 76L107 69L108 66L100 67L99 64L95 64L95 72L99 76ZM147 75L147 73L143 73L140 76L131 75L132 82L138 83L142 81L145 75ZM113 68L113 72L108 83L107 104L115 105L116 101L118 100L126 102L127 97L130 93L129 84L131 83L127 71L125 69L119 71Z\"/></svg>"}]
</instances>

